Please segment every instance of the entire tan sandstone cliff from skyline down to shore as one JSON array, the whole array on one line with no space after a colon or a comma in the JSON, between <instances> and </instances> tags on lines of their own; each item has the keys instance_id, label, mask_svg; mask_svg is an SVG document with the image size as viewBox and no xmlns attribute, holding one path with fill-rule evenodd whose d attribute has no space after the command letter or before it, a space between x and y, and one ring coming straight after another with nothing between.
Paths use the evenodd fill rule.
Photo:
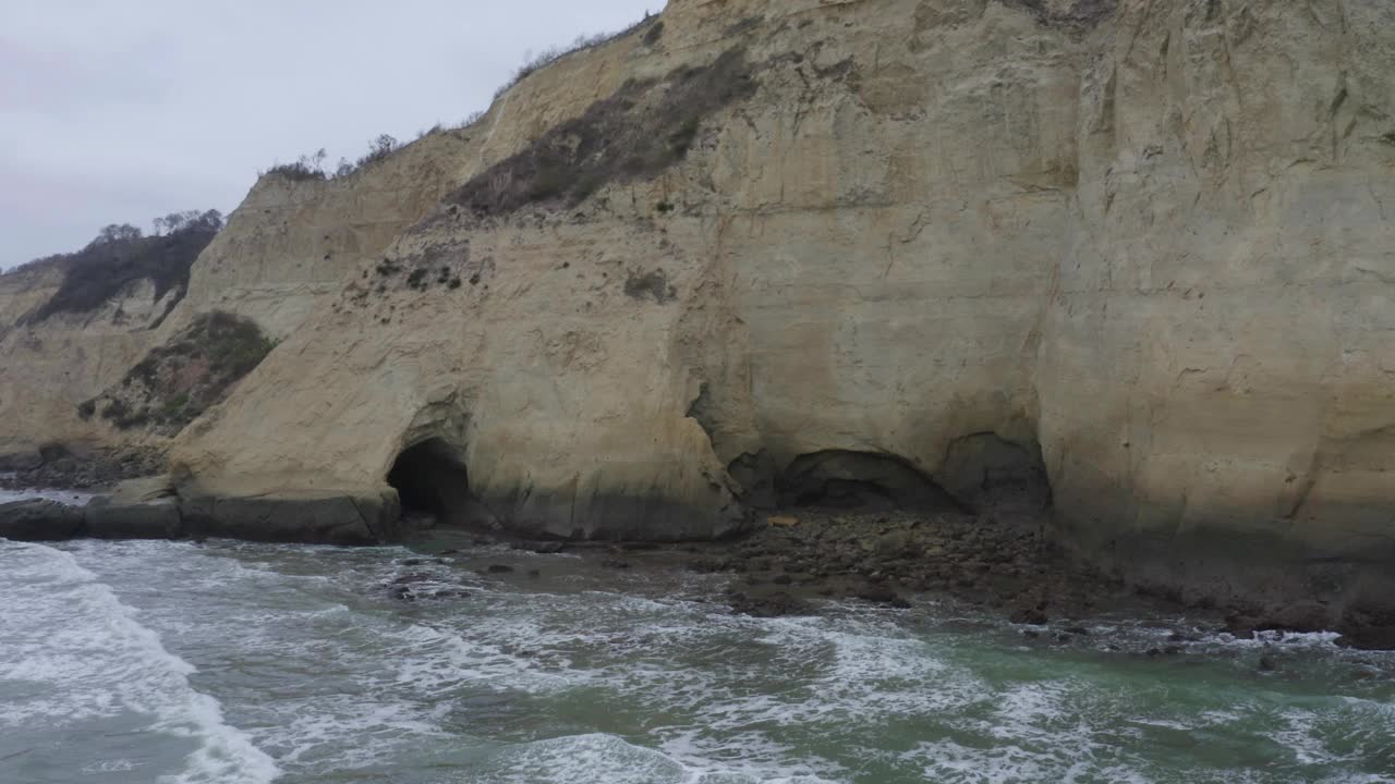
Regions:
<instances>
[{"instance_id":1,"label":"entire tan sandstone cliff from skyline down to shore","mask_svg":"<svg viewBox=\"0 0 1395 784\"><path fill-rule=\"evenodd\" d=\"M68 399L0 421L119 441L64 406L218 310L280 342L170 458L244 533L1049 492L1140 583L1388 607L1392 117L1381 0L674 0L467 128L264 179L159 329L13 329L7 399Z\"/></svg>"}]
</instances>

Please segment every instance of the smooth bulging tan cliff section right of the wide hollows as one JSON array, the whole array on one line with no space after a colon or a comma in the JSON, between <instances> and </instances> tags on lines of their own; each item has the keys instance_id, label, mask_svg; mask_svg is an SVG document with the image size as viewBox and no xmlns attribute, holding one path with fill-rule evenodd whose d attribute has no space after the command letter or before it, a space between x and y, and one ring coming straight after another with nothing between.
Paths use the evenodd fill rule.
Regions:
<instances>
[{"instance_id":1,"label":"smooth bulging tan cliff section right of the wide hollows","mask_svg":"<svg viewBox=\"0 0 1395 784\"><path fill-rule=\"evenodd\" d=\"M1126 3L1113 27L1035 367L1069 538L1202 593L1378 596L1395 6Z\"/></svg>"}]
</instances>

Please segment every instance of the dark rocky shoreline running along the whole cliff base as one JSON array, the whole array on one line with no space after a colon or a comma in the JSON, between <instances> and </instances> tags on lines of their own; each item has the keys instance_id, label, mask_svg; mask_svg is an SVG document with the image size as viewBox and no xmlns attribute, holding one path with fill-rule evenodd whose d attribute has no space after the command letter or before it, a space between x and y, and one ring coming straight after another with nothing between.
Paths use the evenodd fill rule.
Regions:
<instances>
[{"instance_id":1,"label":"dark rocky shoreline running along the whole cliff base","mask_svg":"<svg viewBox=\"0 0 1395 784\"><path fill-rule=\"evenodd\" d=\"M10 477L7 484L24 487L31 476ZM813 614L826 598L904 608L911 596L932 596L981 607L1016 624L1049 626L1056 635L1078 633L1080 619L1092 614L1126 610L1149 617L1186 612L1215 632L1242 639L1260 632L1335 631L1350 647L1395 649L1395 618L1339 612L1318 603L1187 603L1131 586L1060 551L1050 538L1050 512L1035 506L1000 506L985 513L795 508L762 515L745 533L717 541L578 543L432 529L431 520L391 522L398 518L392 499L368 504L371 508L363 499L340 497L296 502L181 499L169 494L162 477L146 484L127 483L116 495L98 497L85 508L50 499L0 505L0 537L226 537L349 545L398 540L431 551L439 550L441 541L467 536L477 545L576 552L598 558L611 569L661 561L671 569L728 573L732 580L725 601L734 612L755 617ZM241 525L244 518L255 520L255 529ZM285 522L285 530L278 529L280 536L268 536L278 533L268 529L269 520Z\"/></svg>"}]
</instances>

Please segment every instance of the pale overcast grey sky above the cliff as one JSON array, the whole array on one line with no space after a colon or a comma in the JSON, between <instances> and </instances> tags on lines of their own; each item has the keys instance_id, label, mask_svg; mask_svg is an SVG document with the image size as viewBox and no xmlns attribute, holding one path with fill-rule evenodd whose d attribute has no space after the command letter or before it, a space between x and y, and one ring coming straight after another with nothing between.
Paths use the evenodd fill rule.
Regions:
<instances>
[{"instance_id":1,"label":"pale overcast grey sky above the cliff","mask_svg":"<svg viewBox=\"0 0 1395 784\"><path fill-rule=\"evenodd\" d=\"M458 123L529 52L663 3L0 0L0 266Z\"/></svg>"}]
</instances>

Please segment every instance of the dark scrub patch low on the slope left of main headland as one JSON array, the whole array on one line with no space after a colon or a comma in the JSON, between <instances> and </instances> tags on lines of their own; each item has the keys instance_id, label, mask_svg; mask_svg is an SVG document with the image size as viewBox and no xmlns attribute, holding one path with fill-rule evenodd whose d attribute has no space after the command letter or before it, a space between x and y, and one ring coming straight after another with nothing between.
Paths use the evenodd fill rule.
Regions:
<instances>
[{"instance_id":1,"label":"dark scrub patch low on the slope left of main headland","mask_svg":"<svg viewBox=\"0 0 1395 784\"><path fill-rule=\"evenodd\" d=\"M222 402L273 347L248 318L201 315L133 367L120 385L78 406L78 414L100 414L120 430L153 425L173 435Z\"/></svg>"}]
</instances>

